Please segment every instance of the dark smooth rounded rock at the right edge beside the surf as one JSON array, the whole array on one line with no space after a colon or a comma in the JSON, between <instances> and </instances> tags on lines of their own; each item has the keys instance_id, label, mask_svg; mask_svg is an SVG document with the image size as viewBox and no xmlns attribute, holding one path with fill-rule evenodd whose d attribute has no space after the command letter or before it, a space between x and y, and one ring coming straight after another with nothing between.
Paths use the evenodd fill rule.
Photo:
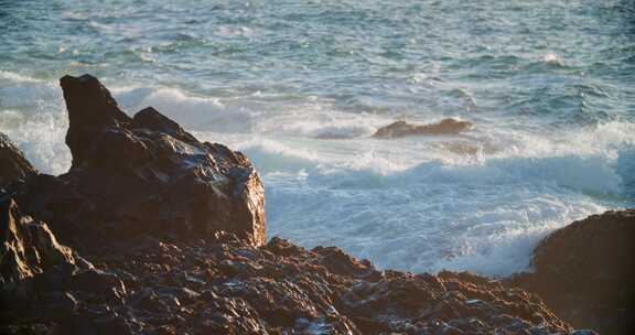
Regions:
<instances>
[{"instance_id":1,"label":"dark smooth rounded rock at the right edge beside the surf","mask_svg":"<svg viewBox=\"0 0 635 335\"><path fill-rule=\"evenodd\" d=\"M635 209L606 212L559 229L534 251L535 272L510 280L538 293L577 327L635 333Z\"/></svg>"}]
</instances>

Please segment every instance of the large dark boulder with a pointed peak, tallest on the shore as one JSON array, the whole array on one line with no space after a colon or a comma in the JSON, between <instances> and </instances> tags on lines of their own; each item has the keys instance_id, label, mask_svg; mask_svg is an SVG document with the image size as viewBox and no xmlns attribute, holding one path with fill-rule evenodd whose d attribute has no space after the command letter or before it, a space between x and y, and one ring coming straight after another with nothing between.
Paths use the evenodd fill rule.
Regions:
<instances>
[{"instance_id":1,"label":"large dark boulder with a pointed peak, tallest on the shore","mask_svg":"<svg viewBox=\"0 0 635 335\"><path fill-rule=\"evenodd\" d=\"M153 108L128 117L93 76L61 84L73 166L30 184L30 213L62 237L229 231L265 244L263 186L244 154L200 142Z\"/></svg>"}]
</instances>

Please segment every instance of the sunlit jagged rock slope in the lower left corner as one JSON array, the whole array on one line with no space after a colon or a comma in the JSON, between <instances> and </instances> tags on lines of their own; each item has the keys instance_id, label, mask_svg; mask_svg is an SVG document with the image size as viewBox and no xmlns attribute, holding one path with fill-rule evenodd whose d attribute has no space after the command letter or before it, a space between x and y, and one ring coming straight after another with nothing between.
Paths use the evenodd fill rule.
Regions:
<instances>
[{"instance_id":1,"label":"sunlit jagged rock slope in the lower left corner","mask_svg":"<svg viewBox=\"0 0 635 335\"><path fill-rule=\"evenodd\" d=\"M8 194L0 198L0 334L94 334L66 332L78 309L126 294L117 274L60 245Z\"/></svg>"}]
</instances>

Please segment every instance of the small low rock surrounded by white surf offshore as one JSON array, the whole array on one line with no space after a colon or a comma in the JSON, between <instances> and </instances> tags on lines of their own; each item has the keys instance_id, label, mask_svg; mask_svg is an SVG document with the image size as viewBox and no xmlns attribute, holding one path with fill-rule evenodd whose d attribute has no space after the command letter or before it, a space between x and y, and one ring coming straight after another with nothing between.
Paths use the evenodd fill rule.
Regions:
<instances>
[{"instance_id":1,"label":"small low rock surrounded by white surf offshore","mask_svg":"<svg viewBox=\"0 0 635 335\"><path fill-rule=\"evenodd\" d=\"M373 134L373 137L380 139L392 139L407 136L456 134L470 128L472 128L472 123L452 118L443 119L438 123L431 125L412 125L406 121L396 121L386 127L379 128L375 134Z\"/></svg>"}]
</instances>

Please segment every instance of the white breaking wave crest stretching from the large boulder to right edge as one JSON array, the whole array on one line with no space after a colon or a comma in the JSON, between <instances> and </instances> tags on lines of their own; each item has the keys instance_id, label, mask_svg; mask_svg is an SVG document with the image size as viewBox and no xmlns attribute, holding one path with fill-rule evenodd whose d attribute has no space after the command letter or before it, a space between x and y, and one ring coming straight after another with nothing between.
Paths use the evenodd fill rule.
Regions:
<instances>
[{"instance_id":1,"label":"white breaking wave crest stretching from the large boulder to right edge","mask_svg":"<svg viewBox=\"0 0 635 335\"><path fill-rule=\"evenodd\" d=\"M514 129L483 131L483 137L465 137L458 141L418 141L418 138L413 138L400 142L384 142L357 138L353 141L321 144L322 142L310 140L298 143L293 138L260 134L259 137L267 139L266 143L260 139L255 140L256 144L249 141L237 143L238 148L246 151L257 148L258 155L267 156L268 161L275 161L280 154L301 159L310 156L315 166L351 172L374 170L386 177L400 174L438 181L473 179L502 182L529 177L596 193L615 193L620 188L621 179L626 177L623 172L627 169L623 165L628 164L631 152L635 148L635 126L623 122L562 131L551 138L521 133ZM452 150L448 149L452 144L470 142L474 145L492 145L489 154L474 155L465 160L452 155ZM420 150L422 148L428 150ZM434 151L435 148L441 151ZM388 163L377 168L379 161ZM265 165L263 168L267 169Z\"/></svg>"}]
</instances>

